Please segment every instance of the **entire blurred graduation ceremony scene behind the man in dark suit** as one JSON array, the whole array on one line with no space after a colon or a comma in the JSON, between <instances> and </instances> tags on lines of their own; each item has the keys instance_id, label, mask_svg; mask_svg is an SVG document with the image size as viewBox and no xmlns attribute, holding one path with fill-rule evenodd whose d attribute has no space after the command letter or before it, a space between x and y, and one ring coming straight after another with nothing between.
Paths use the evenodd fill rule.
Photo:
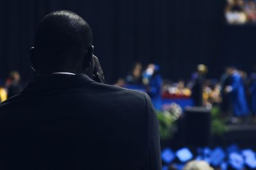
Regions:
<instances>
[{"instance_id":1,"label":"entire blurred graduation ceremony scene behind the man in dark suit","mask_svg":"<svg viewBox=\"0 0 256 170\"><path fill-rule=\"evenodd\" d=\"M256 169L255 0L1 0L0 101L33 79L36 25L56 10L90 24L109 84L150 95L163 169Z\"/></svg>"}]
</instances>

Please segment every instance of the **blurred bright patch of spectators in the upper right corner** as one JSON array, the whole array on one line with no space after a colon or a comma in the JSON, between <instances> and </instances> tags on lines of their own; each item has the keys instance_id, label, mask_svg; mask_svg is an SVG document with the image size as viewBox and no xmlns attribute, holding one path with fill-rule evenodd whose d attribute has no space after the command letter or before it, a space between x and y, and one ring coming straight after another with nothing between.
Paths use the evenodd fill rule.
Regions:
<instances>
[{"instance_id":1,"label":"blurred bright patch of spectators in the upper right corner","mask_svg":"<svg viewBox=\"0 0 256 170\"><path fill-rule=\"evenodd\" d=\"M227 0L225 17L229 24L256 23L256 1Z\"/></svg>"}]
</instances>

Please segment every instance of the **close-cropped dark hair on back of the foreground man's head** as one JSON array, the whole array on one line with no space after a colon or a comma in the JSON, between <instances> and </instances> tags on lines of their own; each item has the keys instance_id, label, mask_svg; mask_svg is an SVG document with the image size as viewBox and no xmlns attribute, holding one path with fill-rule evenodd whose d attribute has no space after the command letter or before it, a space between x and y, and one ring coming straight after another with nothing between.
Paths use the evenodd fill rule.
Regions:
<instances>
[{"instance_id":1,"label":"close-cropped dark hair on back of the foreground man's head","mask_svg":"<svg viewBox=\"0 0 256 170\"><path fill-rule=\"evenodd\" d=\"M36 29L35 48L40 53L41 64L76 60L88 46L92 46L90 25L72 11L49 13Z\"/></svg>"}]
</instances>

